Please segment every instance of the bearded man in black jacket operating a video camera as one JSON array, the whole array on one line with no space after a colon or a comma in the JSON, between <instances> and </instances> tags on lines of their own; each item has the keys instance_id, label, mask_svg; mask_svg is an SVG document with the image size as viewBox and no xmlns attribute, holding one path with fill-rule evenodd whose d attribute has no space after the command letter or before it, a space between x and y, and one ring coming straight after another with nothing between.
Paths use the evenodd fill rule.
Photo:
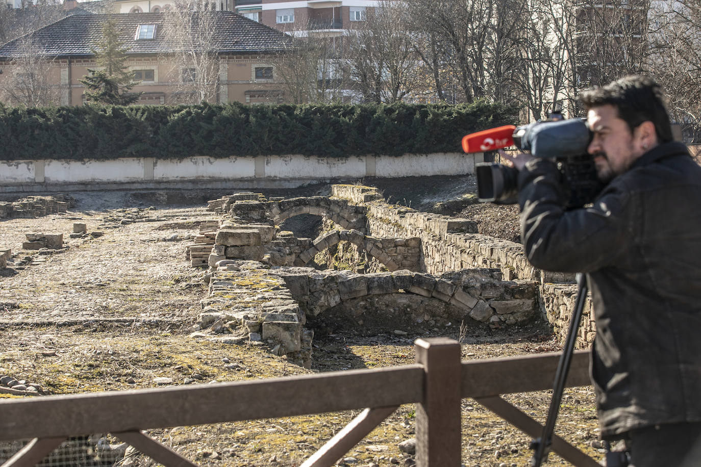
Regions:
<instances>
[{"instance_id":1,"label":"bearded man in black jacket operating a video camera","mask_svg":"<svg viewBox=\"0 0 701 467\"><path fill-rule=\"evenodd\" d=\"M607 183L592 205L566 209L554 160L501 151L519 169L526 256L587 274L601 437L625 440L631 466L701 466L701 167L672 141L650 78L580 101L587 152Z\"/></svg>"}]
</instances>

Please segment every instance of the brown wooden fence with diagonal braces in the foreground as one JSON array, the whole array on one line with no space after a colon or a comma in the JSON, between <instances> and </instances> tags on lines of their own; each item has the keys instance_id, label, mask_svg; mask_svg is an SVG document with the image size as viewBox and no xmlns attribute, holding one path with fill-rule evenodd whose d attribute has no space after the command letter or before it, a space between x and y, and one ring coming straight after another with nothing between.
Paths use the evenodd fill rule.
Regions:
<instances>
[{"instance_id":1,"label":"brown wooden fence with diagonal braces in the foreground","mask_svg":"<svg viewBox=\"0 0 701 467\"><path fill-rule=\"evenodd\" d=\"M460 360L447 338L418 339L416 363L373 370L0 401L0 441L33 438L3 464L34 466L70 435L111 433L166 467L196 466L143 433L213 424L365 409L302 467L332 466L399 405L416 403L416 465L461 465L461 398L473 398L533 438L542 426L500 397L552 388L559 354ZM576 352L566 386L590 384L587 352ZM304 394L304 398L280 398ZM369 407L369 408L366 408ZM554 436L552 450L576 467L599 464Z\"/></svg>"}]
</instances>

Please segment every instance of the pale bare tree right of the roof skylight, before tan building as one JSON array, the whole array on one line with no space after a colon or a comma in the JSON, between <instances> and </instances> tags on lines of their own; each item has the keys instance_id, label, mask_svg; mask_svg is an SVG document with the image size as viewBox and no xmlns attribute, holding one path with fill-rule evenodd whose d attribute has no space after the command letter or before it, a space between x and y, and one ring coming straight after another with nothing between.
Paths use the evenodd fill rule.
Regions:
<instances>
[{"instance_id":1,"label":"pale bare tree right of the roof skylight, before tan building","mask_svg":"<svg viewBox=\"0 0 701 467\"><path fill-rule=\"evenodd\" d=\"M207 0L175 0L165 12L163 34L173 53L174 97L183 104L216 102L219 58L212 48L217 32L216 12Z\"/></svg>"}]
</instances>

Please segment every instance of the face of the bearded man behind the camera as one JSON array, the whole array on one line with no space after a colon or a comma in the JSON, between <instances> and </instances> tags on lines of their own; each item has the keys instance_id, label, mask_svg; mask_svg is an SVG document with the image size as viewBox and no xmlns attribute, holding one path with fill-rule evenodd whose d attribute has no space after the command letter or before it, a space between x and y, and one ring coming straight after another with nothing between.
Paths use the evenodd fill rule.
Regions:
<instances>
[{"instance_id":1,"label":"face of the bearded man behind the camera","mask_svg":"<svg viewBox=\"0 0 701 467\"><path fill-rule=\"evenodd\" d=\"M611 104L589 109L587 122L594 134L587 152L594 156L601 181L611 181L626 172L647 150L637 132L630 132L625 120L618 118L618 109Z\"/></svg>"}]
</instances>

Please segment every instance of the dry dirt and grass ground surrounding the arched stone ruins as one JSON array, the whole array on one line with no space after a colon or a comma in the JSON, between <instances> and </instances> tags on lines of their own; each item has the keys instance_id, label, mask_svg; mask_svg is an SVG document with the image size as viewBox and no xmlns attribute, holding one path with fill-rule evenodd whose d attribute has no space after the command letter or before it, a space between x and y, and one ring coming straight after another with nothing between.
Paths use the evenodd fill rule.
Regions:
<instances>
[{"instance_id":1,"label":"dry dirt and grass ground surrounding the arched stone ruins","mask_svg":"<svg viewBox=\"0 0 701 467\"><path fill-rule=\"evenodd\" d=\"M517 232L515 208L473 204L474 183L467 176L364 182L379 186L390 202L400 201L402 195L402 204L422 210L444 203L437 210L470 214L484 232L507 238ZM321 195L327 190L328 186L311 186L266 195ZM406 336L348 330L315 337L313 366L304 370L266 347L193 340L189 334L206 293L205 271L189 266L184 245L196 233L196 222L217 218L204 207L207 199L220 193L72 195L78 204L68 213L0 221L0 248L11 248L14 256L14 264L0 271L0 374L39 384L43 393L155 387L163 382L159 377L176 385L207 384L405 365L414 362L414 340L433 335L462 337L463 359L559 350L543 323L475 335L461 335L457 325ZM452 204L446 206L447 202ZM74 222L104 235L69 239ZM25 234L32 232L62 232L68 249L53 254L22 250ZM505 398L544 421L549 392ZM304 394L284 396L294 404ZM400 407L341 463L412 465L413 456L398 445L414 436L414 410L413 405ZM357 414L178 427L149 434L203 466L299 466ZM462 419L465 466L526 465L531 456L528 436L474 400L463 400ZM597 431L592 388L568 389L557 433L599 459L603 454ZM154 465L131 454L118 465ZM545 465L568 464L551 455Z\"/></svg>"}]
</instances>

